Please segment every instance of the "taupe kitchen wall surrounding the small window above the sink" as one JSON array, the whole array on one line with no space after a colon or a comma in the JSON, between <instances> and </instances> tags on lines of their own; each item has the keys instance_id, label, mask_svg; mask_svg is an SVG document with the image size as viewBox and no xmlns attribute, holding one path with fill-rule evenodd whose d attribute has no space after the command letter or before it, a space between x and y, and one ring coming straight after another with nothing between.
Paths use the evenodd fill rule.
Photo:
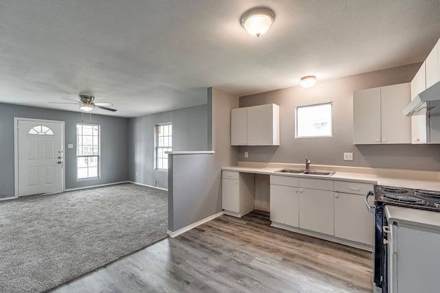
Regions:
<instances>
[{"instance_id":1,"label":"taupe kitchen wall surrounding the small window above the sink","mask_svg":"<svg viewBox=\"0 0 440 293\"><path fill-rule=\"evenodd\" d=\"M440 145L353 145L353 91L410 82L421 64L318 81L310 89L296 86L240 97L240 107L259 104L280 106L281 144L240 147L239 161L419 169L439 171ZM299 105L333 102L333 137L295 139L295 108ZM244 152L249 157L244 157ZM353 161L343 153L353 152Z\"/></svg>"}]
</instances>

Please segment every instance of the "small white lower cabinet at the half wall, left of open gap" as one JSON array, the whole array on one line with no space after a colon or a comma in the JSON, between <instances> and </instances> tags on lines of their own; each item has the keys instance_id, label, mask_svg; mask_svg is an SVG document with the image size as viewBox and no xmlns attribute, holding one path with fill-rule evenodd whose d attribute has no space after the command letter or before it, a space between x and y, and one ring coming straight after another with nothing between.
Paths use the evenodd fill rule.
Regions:
<instances>
[{"instance_id":1,"label":"small white lower cabinet at the half wall, left of open gap","mask_svg":"<svg viewBox=\"0 0 440 293\"><path fill-rule=\"evenodd\" d=\"M223 171L221 207L236 217L250 213L254 209L254 174Z\"/></svg>"}]
</instances>

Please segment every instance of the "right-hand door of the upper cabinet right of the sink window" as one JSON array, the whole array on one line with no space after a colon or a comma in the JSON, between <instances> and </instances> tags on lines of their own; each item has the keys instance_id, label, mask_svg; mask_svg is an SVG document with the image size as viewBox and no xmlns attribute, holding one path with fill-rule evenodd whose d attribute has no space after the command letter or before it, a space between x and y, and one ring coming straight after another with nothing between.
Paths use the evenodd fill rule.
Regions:
<instances>
[{"instance_id":1,"label":"right-hand door of the upper cabinet right of the sink window","mask_svg":"<svg viewBox=\"0 0 440 293\"><path fill-rule=\"evenodd\" d=\"M410 83L380 88L382 143L411 143L411 118L402 111L411 102Z\"/></svg>"}]
</instances>

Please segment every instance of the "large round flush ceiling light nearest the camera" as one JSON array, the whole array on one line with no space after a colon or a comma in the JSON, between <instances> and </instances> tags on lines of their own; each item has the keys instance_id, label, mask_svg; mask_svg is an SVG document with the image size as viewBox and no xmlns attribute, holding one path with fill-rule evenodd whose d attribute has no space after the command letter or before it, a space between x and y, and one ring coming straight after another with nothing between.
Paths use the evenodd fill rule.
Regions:
<instances>
[{"instance_id":1,"label":"large round flush ceiling light nearest the camera","mask_svg":"<svg viewBox=\"0 0 440 293\"><path fill-rule=\"evenodd\" d=\"M274 19L275 14L272 10L265 7L257 7L243 13L240 22L252 36L259 37L269 30Z\"/></svg>"}]
</instances>

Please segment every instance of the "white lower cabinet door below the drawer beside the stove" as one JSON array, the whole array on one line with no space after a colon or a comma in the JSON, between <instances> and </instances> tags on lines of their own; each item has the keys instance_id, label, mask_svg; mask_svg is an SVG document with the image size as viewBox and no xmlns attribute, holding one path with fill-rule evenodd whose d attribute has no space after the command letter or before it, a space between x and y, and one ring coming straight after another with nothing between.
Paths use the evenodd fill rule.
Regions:
<instances>
[{"instance_id":1,"label":"white lower cabinet door below the drawer beside the stove","mask_svg":"<svg viewBox=\"0 0 440 293\"><path fill-rule=\"evenodd\" d=\"M375 219L365 209L365 196L335 194L335 236L373 245Z\"/></svg>"}]
</instances>

